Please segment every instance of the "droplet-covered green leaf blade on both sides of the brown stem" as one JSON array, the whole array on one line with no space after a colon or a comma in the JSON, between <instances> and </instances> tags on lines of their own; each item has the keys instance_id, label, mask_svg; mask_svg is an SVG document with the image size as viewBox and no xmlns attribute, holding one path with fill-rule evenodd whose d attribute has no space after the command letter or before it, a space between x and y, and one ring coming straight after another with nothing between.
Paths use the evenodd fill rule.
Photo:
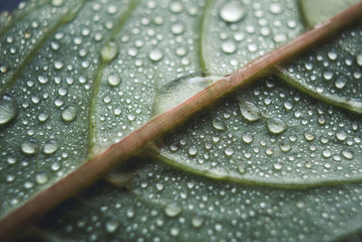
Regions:
<instances>
[{"instance_id":1,"label":"droplet-covered green leaf blade on both sides of the brown stem","mask_svg":"<svg viewBox=\"0 0 362 242\"><path fill-rule=\"evenodd\" d=\"M221 74L301 34L302 18L315 21L306 5L43 0L1 15L0 218ZM318 56L313 63L319 75L332 68L354 76L345 91L302 88L310 53L290 64L305 79L277 66L275 76L157 140L153 160L166 164L130 160L44 218L36 236L280 241L356 233L360 184L345 183L362 172L360 117L350 111L360 98L359 28L311 51L335 48L329 67Z\"/></svg>"}]
</instances>

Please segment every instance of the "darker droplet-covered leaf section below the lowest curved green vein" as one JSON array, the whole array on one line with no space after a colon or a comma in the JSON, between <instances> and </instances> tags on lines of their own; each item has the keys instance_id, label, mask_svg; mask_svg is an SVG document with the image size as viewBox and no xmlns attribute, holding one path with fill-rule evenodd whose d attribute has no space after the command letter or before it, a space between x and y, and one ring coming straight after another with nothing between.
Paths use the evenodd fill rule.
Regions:
<instances>
[{"instance_id":1,"label":"darker droplet-covered leaf section below the lowest curved green vein","mask_svg":"<svg viewBox=\"0 0 362 242\"><path fill-rule=\"evenodd\" d=\"M138 169L128 187L134 189L100 184L43 224L52 235L91 241L328 240L354 227L362 206L358 185L257 189L195 178L152 160ZM47 222L56 216L61 216L56 223Z\"/></svg>"}]
</instances>

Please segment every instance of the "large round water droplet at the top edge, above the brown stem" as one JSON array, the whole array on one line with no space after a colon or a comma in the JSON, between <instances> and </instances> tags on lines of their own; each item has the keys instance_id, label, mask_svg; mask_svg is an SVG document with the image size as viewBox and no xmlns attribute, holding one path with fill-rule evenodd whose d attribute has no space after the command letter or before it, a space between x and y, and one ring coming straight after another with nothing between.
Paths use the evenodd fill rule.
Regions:
<instances>
[{"instance_id":1,"label":"large round water droplet at the top edge, above the brown stem","mask_svg":"<svg viewBox=\"0 0 362 242\"><path fill-rule=\"evenodd\" d=\"M225 3L219 11L220 17L227 23L236 23L245 16L245 8L243 4L237 1Z\"/></svg>"}]
</instances>

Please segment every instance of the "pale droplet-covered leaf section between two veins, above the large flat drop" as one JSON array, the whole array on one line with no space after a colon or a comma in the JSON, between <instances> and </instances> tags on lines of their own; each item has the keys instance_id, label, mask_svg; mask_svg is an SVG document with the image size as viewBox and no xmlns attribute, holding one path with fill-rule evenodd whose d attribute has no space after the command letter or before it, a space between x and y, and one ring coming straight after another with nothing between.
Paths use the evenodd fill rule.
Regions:
<instances>
[{"instance_id":1,"label":"pale droplet-covered leaf section between two veins, above the large flat drop","mask_svg":"<svg viewBox=\"0 0 362 242\"><path fill-rule=\"evenodd\" d=\"M109 145L145 124L157 89L199 69L195 51L204 1L141 1L114 36L118 55L103 71L96 143ZM187 24L186 24L187 23Z\"/></svg>"}]
</instances>

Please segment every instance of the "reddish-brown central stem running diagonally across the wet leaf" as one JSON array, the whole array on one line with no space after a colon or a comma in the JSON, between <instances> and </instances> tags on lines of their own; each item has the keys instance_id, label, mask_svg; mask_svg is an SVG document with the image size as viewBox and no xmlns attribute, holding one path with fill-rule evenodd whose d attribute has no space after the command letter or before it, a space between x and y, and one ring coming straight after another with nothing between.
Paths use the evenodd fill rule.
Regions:
<instances>
[{"instance_id":1,"label":"reddish-brown central stem running diagonally across the wet leaf","mask_svg":"<svg viewBox=\"0 0 362 242\"><path fill-rule=\"evenodd\" d=\"M317 25L290 43L262 55L237 72L215 82L202 92L198 92L174 109L157 116L138 131L130 133L125 139L113 144L99 156L85 162L79 169L72 171L65 178L52 184L52 186L35 195L23 206L9 213L0 221L0 241L10 239L16 231L29 225L33 219L42 217L51 208L70 198L81 189L90 186L114 165L126 160L139 148L147 144L148 141L154 140L164 132L169 131L196 111L202 110L205 106L232 92L245 82L250 82L268 73L274 64L284 62L291 56L310 48L310 45L317 43L330 34L334 34L338 29L361 16L362 2L330 18L327 22Z\"/></svg>"}]
</instances>

